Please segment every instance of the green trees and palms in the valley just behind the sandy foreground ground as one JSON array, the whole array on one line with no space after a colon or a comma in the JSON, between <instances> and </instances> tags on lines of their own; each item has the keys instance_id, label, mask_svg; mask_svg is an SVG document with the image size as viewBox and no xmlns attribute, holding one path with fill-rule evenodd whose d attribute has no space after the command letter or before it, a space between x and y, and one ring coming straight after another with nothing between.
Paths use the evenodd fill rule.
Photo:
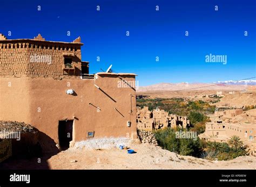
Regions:
<instances>
[{"instance_id":1,"label":"green trees and palms in the valley just behind the sandy foreground ground","mask_svg":"<svg viewBox=\"0 0 256 187\"><path fill-rule=\"evenodd\" d=\"M228 143L206 142L198 137L194 139L176 138L176 131L164 128L154 131L160 147L180 155L201 157L207 160L231 160L246 155L246 146L238 136L232 136Z\"/></svg>"}]
</instances>

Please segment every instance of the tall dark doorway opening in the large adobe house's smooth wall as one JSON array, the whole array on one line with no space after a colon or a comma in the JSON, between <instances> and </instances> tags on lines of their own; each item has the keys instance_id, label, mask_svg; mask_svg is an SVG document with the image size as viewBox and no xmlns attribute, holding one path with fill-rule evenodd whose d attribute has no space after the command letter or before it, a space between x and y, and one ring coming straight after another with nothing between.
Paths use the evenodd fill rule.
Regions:
<instances>
[{"instance_id":1,"label":"tall dark doorway opening in the large adobe house's smooth wall","mask_svg":"<svg viewBox=\"0 0 256 187\"><path fill-rule=\"evenodd\" d=\"M59 147L62 150L69 148L69 142L72 141L73 120L59 121L58 136Z\"/></svg>"}]
</instances>

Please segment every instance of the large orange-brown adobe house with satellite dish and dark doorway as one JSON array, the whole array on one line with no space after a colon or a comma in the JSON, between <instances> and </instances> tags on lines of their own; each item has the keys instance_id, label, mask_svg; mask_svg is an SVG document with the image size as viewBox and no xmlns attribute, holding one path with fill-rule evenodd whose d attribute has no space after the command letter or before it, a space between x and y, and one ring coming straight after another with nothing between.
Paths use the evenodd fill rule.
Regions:
<instances>
[{"instance_id":1,"label":"large orange-brown adobe house with satellite dish and dark doorway","mask_svg":"<svg viewBox=\"0 0 256 187\"><path fill-rule=\"evenodd\" d=\"M51 149L88 139L137 139L135 74L89 74L78 37L73 42L6 39L0 34L0 120L36 127Z\"/></svg>"}]
</instances>

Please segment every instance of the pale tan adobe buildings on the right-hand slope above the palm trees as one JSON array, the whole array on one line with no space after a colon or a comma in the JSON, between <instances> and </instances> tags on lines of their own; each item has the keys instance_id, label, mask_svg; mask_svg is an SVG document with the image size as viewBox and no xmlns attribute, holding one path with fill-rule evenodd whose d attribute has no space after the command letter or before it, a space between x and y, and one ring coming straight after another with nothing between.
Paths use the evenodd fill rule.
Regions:
<instances>
[{"instance_id":1,"label":"pale tan adobe buildings on the right-hand slope above the palm trees","mask_svg":"<svg viewBox=\"0 0 256 187\"><path fill-rule=\"evenodd\" d=\"M243 112L232 109L215 112L211 122L205 124L205 132L199 138L206 141L227 142L233 135L248 146L252 155L256 155L256 109Z\"/></svg>"}]
</instances>

